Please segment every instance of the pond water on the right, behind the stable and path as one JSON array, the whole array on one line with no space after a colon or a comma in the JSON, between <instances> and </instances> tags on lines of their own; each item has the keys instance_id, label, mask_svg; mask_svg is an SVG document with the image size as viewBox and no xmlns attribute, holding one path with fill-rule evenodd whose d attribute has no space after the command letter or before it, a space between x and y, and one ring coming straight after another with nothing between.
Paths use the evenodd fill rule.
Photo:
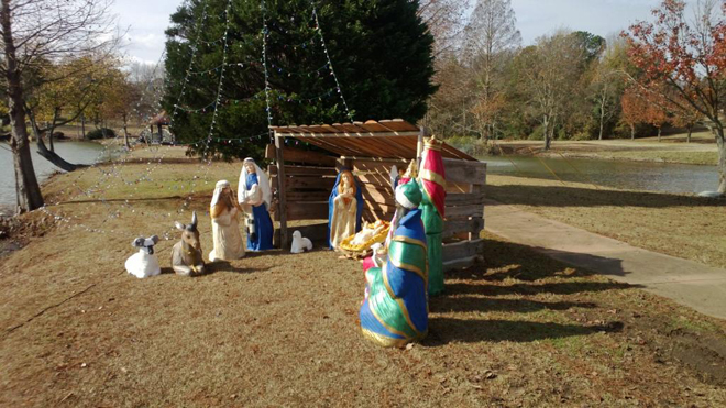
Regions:
<instances>
[{"instance_id":1,"label":"pond water on the right, behind the stable and path","mask_svg":"<svg viewBox=\"0 0 726 408\"><path fill-rule=\"evenodd\" d=\"M693 194L718 187L716 166L586 158L487 156L490 174L590 183L623 189ZM552 170L550 172L548 167Z\"/></svg>"}]
</instances>

